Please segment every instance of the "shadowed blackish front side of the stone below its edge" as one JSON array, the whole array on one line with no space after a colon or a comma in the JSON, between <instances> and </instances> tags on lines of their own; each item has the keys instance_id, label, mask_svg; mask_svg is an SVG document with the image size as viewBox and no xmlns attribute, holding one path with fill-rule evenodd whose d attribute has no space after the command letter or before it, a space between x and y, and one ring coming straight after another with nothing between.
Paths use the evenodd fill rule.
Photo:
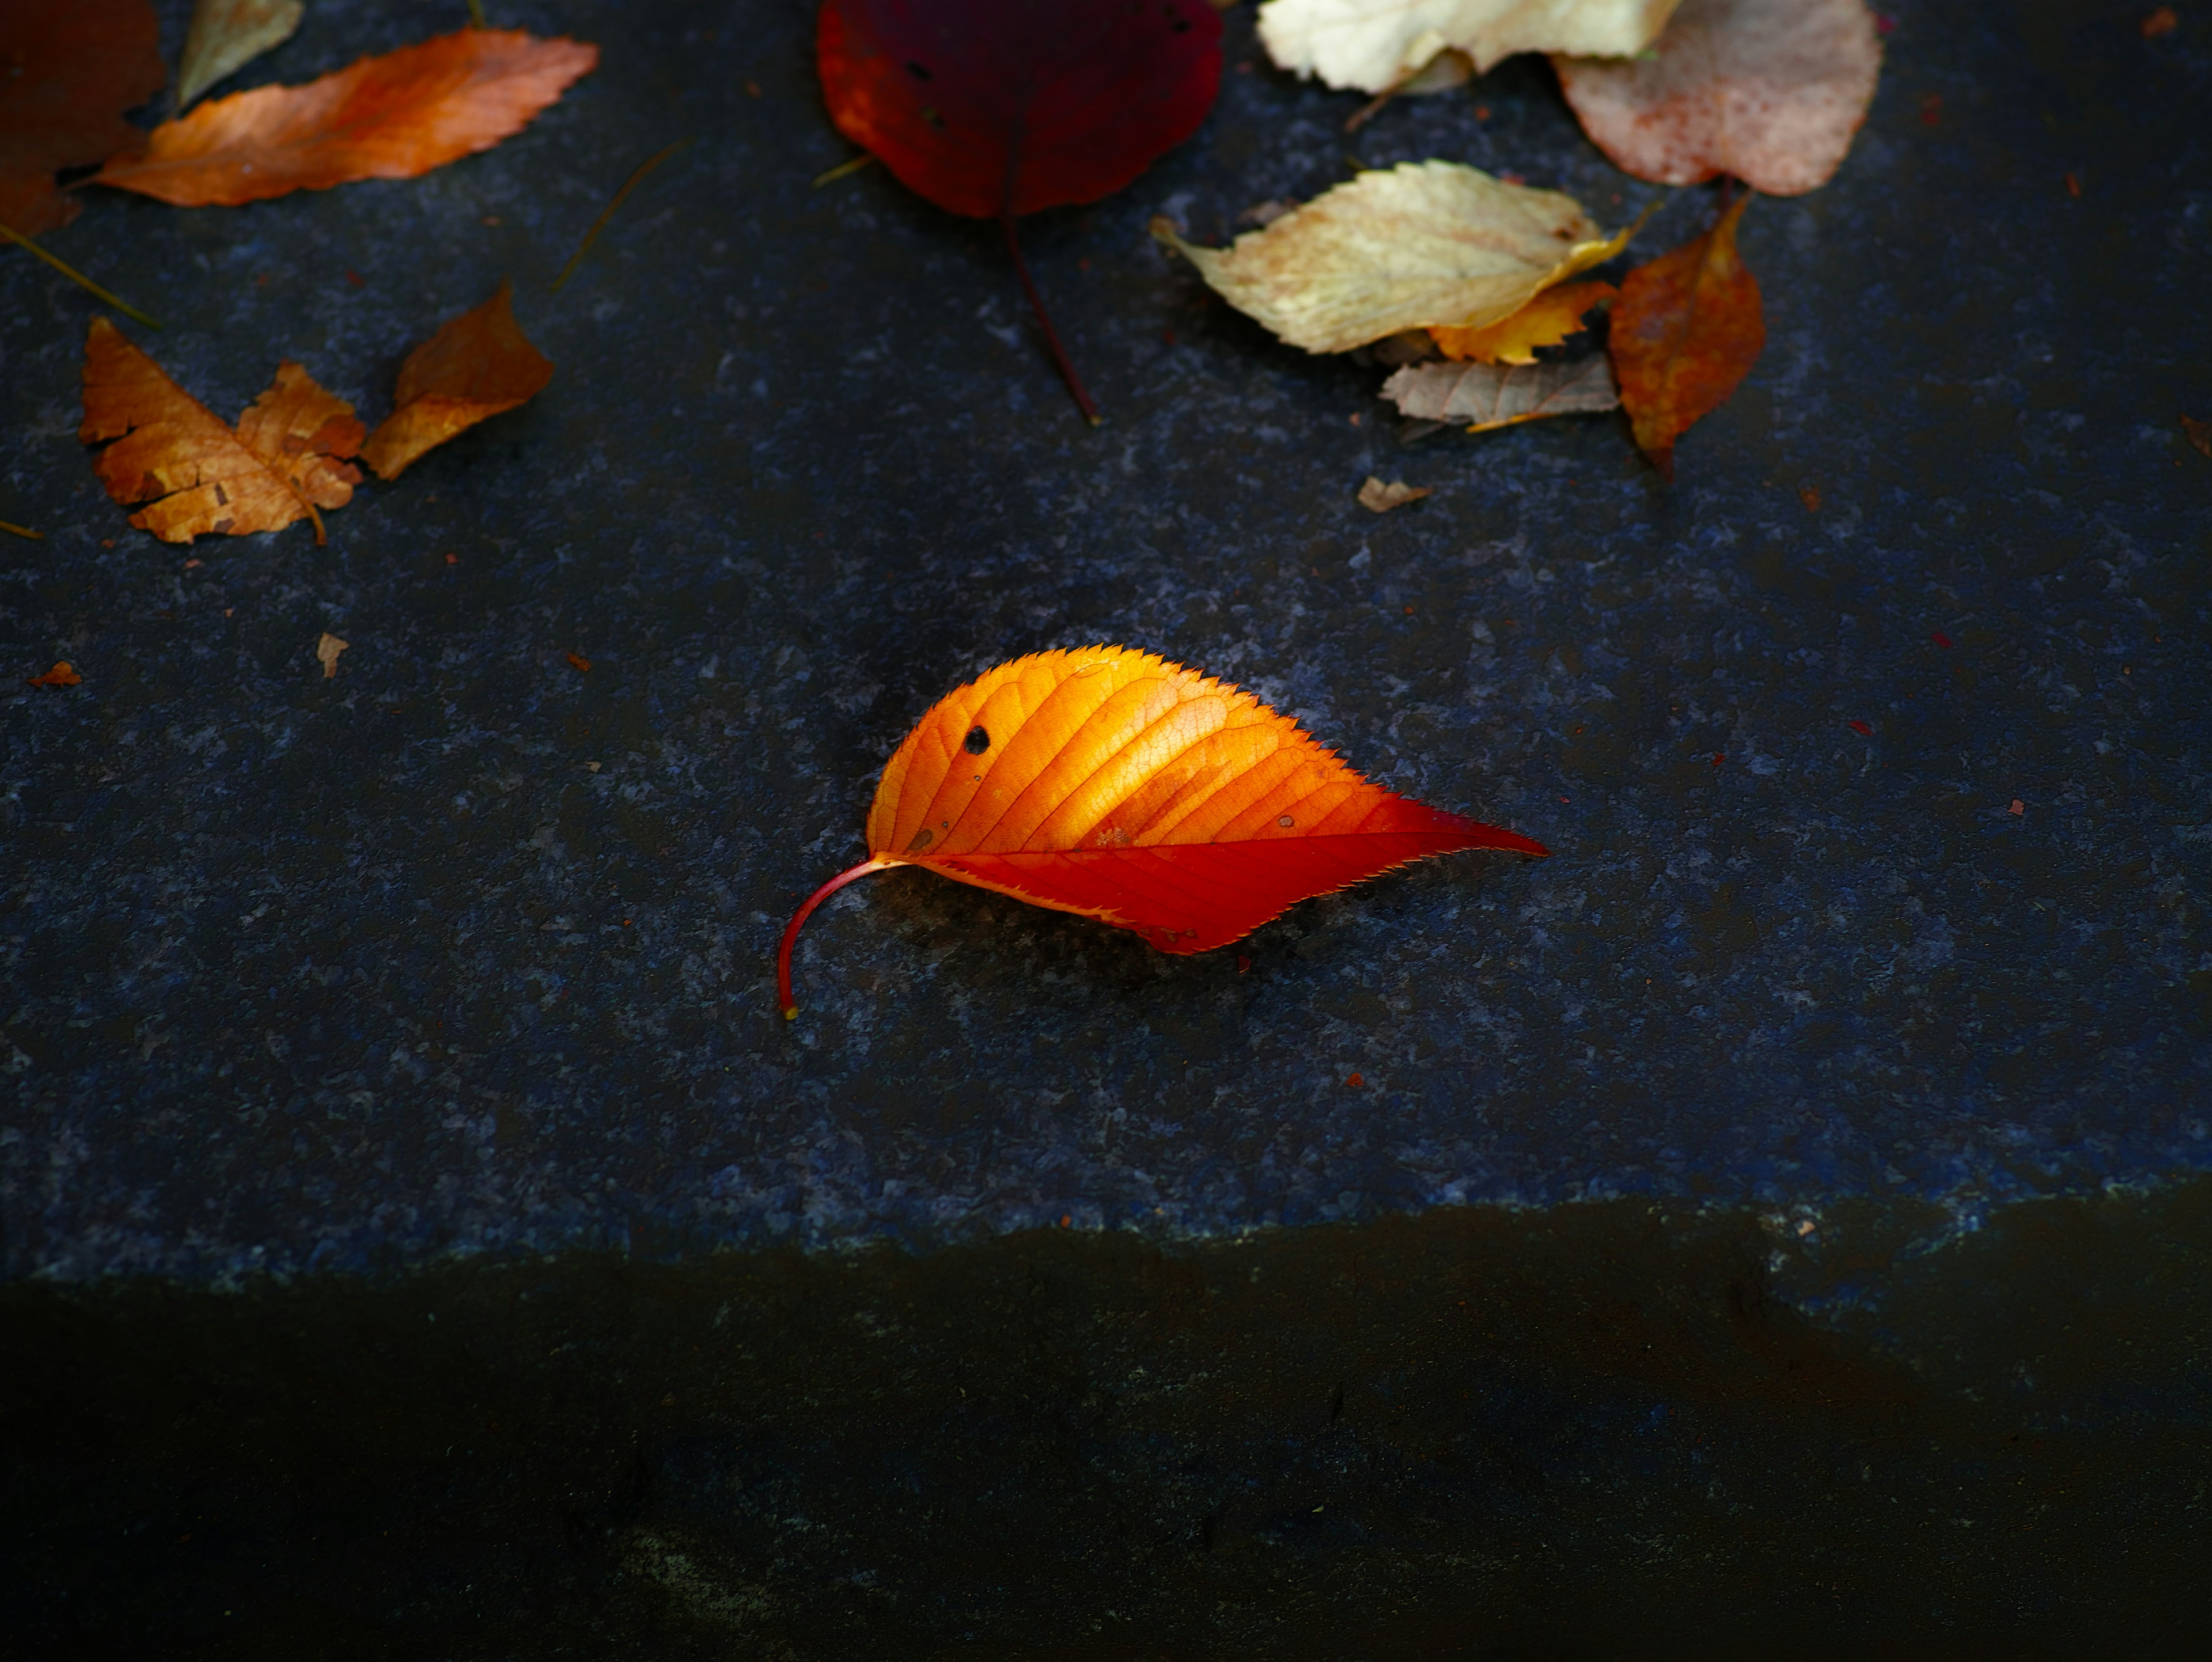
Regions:
<instances>
[{"instance_id":1,"label":"shadowed blackish front side of the stone below its edge","mask_svg":"<svg viewBox=\"0 0 2212 1662\"><path fill-rule=\"evenodd\" d=\"M0 1611L71 1662L2205 1655L2212 1184L1944 1228L13 1284Z\"/></svg>"}]
</instances>

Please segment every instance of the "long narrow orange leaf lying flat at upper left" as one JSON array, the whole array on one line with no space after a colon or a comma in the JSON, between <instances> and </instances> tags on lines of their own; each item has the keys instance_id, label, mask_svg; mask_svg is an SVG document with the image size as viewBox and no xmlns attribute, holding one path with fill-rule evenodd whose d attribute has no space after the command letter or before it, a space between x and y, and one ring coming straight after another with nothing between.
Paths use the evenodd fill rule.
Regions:
<instances>
[{"instance_id":1,"label":"long narrow orange leaf lying flat at upper left","mask_svg":"<svg viewBox=\"0 0 2212 1662\"><path fill-rule=\"evenodd\" d=\"M577 40L462 29L305 86L257 86L161 122L93 184L179 208L239 206L354 179L414 179L529 126L599 62Z\"/></svg>"}]
</instances>

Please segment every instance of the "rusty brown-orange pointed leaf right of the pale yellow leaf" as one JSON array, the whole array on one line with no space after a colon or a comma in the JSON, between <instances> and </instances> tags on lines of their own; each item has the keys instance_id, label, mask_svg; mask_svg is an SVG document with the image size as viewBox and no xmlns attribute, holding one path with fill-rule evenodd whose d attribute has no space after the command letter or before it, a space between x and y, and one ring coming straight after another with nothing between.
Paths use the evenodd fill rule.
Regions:
<instances>
[{"instance_id":1,"label":"rusty brown-orange pointed leaf right of the pale yellow leaf","mask_svg":"<svg viewBox=\"0 0 2212 1662\"><path fill-rule=\"evenodd\" d=\"M1674 478L1674 440L1728 403L1767 343L1759 279L1736 257L1750 195L1697 241L1637 266L1613 308L1613 370L1637 445Z\"/></svg>"}]
</instances>

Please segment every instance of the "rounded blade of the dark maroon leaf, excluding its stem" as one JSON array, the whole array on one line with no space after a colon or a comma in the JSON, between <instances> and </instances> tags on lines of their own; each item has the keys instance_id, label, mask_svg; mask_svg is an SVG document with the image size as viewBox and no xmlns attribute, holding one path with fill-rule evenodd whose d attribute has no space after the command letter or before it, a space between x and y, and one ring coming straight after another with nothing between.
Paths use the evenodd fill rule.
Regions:
<instances>
[{"instance_id":1,"label":"rounded blade of the dark maroon leaf, excluding its stem","mask_svg":"<svg viewBox=\"0 0 2212 1662\"><path fill-rule=\"evenodd\" d=\"M838 131L978 219L1119 190L1221 84L1206 0L825 0L814 44Z\"/></svg>"}]
</instances>

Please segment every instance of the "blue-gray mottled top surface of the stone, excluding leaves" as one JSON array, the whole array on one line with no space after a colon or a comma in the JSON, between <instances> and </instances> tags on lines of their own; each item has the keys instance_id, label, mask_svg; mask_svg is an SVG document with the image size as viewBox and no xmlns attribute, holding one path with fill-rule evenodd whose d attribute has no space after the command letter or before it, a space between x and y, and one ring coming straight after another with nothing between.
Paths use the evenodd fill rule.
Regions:
<instances>
[{"instance_id":1,"label":"blue-gray mottled top surface of the stone, excluding leaves","mask_svg":"<svg viewBox=\"0 0 2212 1662\"><path fill-rule=\"evenodd\" d=\"M234 84L445 11L312 7ZM1617 418L1402 447L1383 370L1146 237L1347 153L1661 195L1528 60L1347 137L1232 13L1199 137L1024 226L1097 432L989 226L880 168L810 188L849 150L799 4L502 2L604 62L487 155L91 193L51 246L221 414L292 356L374 420L507 274L560 367L327 549L168 547L75 438L93 303L0 252L0 518L46 533L0 538L4 1273L2205 1168L2212 22L2139 11L1896 9L1843 173L1745 219L1767 350L1672 487ZM1639 250L1710 212L1674 193ZM1367 474L1436 494L1374 518ZM1555 859L1301 905L1250 972L902 872L816 916L787 1027L776 932L907 726L1095 640ZM22 686L55 657L80 688Z\"/></svg>"}]
</instances>

